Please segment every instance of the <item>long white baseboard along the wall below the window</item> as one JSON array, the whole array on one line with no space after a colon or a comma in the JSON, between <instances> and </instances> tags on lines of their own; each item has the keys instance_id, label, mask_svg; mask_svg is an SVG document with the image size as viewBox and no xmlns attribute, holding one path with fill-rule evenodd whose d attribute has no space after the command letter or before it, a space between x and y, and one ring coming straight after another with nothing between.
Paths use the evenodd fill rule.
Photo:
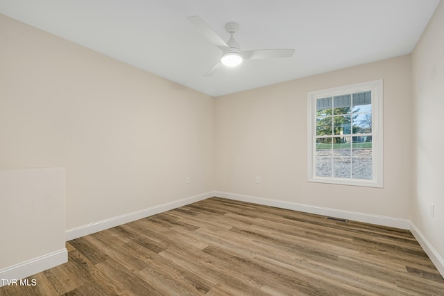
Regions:
<instances>
[{"instance_id":1,"label":"long white baseboard along the wall below the window","mask_svg":"<svg viewBox=\"0 0 444 296\"><path fill-rule=\"evenodd\" d=\"M284 202L282 200L271 200L268 198L257 198L250 195L241 195L235 193L216 191L214 195L221 198L228 198L231 200L239 200L242 202L253 202L255 204L263 204L271 207L278 207L281 209L291 209L293 211L303 211L310 214L318 214L323 216L330 216L334 218L343 218L364 223L371 223L375 225L384 225L388 227L396 227L400 229L409 229L410 220L392 218L386 216L372 215L359 213L354 211L344 211L341 209L331 209L327 207L316 207L309 204L298 204L296 202Z\"/></svg>"}]
</instances>

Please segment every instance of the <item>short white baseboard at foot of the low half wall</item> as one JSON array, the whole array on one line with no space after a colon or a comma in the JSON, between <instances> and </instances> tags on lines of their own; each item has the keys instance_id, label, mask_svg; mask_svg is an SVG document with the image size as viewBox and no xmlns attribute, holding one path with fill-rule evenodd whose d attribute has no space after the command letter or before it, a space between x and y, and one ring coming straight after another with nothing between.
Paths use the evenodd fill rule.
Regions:
<instances>
[{"instance_id":1,"label":"short white baseboard at foot of the low half wall","mask_svg":"<svg viewBox=\"0 0 444 296\"><path fill-rule=\"evenodd\" d=\"M38 272L53 268L57 265L68 262L68 251L66 248L40 256L16 265L12 265L8 268L0 270L0 287L5 286L7 281L15 279L24 279L30 277Z\"/></svg>"}]
</instances>

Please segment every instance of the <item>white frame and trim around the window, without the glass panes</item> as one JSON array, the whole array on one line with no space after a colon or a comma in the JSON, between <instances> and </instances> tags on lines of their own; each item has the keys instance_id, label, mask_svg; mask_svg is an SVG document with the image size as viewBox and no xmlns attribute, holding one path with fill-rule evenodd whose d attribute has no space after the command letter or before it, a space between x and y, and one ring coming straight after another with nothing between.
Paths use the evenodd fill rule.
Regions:
<instances>
[{"instance_id":1,"label":"white frame and trim around the window, without the glass panes","mask_svg":"<svg viewBox=\"0 0 444 296\"><path fill-rule=\"evenodd\" d=\"M344 85L341 87L333 87L329 89L321 89L315 92L307 93L307 110L308 110L308 182L321 182L330 184L343 184L355 186L384 186L384 145L383 145L383 80L372 80L367 82L356 83L353 85ZM356 92L372 91L372 158L373 158L373 179L352 179L341 177L319 177L316 176L316 99L325 98L327 96L339 96L341 94L353 94Z\"/></svg>"}]
</instances>

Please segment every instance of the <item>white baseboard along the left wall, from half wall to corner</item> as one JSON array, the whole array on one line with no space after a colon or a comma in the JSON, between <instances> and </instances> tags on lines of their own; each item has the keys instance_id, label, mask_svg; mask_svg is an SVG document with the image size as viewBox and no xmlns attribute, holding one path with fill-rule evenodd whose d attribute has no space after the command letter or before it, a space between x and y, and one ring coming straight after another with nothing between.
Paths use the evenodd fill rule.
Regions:
<instances>
[{"instance_id":1,"label":"white baseboard along the left wall, from half wall to corner","mask_svg":"<svg viewBox=\"0 0 444 296\"><path fill-rule=\"evenodd\" d=\"M171 209L176 209L178 207L191 204L193 202L198 202L199 200L205 200L207 198L213 197L214 193L215 191L210 191L200 195L191 196L190 198L182 198L181 200L167 202L165 204L160 204L158 206L150 207L148 209L133 211L132 213L123 214L117 217L101 220L95 223L90 223L87 225L82 225L79 227L67 229L66 240L71 241L71 239L74 238L79 238L81 236L86 236L88 234L94 234L94 232L101 232L102 230L119 226L142 218L146 218L148 216L153 216L155 214L162 213L163 211L169 211Z\"/></svg>"}]
</instances>

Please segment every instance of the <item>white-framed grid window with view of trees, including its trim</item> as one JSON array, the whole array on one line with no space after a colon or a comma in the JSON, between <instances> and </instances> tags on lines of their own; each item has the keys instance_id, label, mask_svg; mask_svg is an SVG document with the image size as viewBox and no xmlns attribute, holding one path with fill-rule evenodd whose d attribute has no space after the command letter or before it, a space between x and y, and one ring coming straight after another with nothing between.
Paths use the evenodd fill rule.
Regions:
<instances>
[{"instance_id":1,"label":"white-framed grid window with view of trees, including its trim","mask_svg":"<svg viewBox=\"0 0 444 296\"><path fill-rule=\"evenodd\" d=\"M382 187L382 80L308 93L308 180Z\"/></svg>"}]
</instances>

